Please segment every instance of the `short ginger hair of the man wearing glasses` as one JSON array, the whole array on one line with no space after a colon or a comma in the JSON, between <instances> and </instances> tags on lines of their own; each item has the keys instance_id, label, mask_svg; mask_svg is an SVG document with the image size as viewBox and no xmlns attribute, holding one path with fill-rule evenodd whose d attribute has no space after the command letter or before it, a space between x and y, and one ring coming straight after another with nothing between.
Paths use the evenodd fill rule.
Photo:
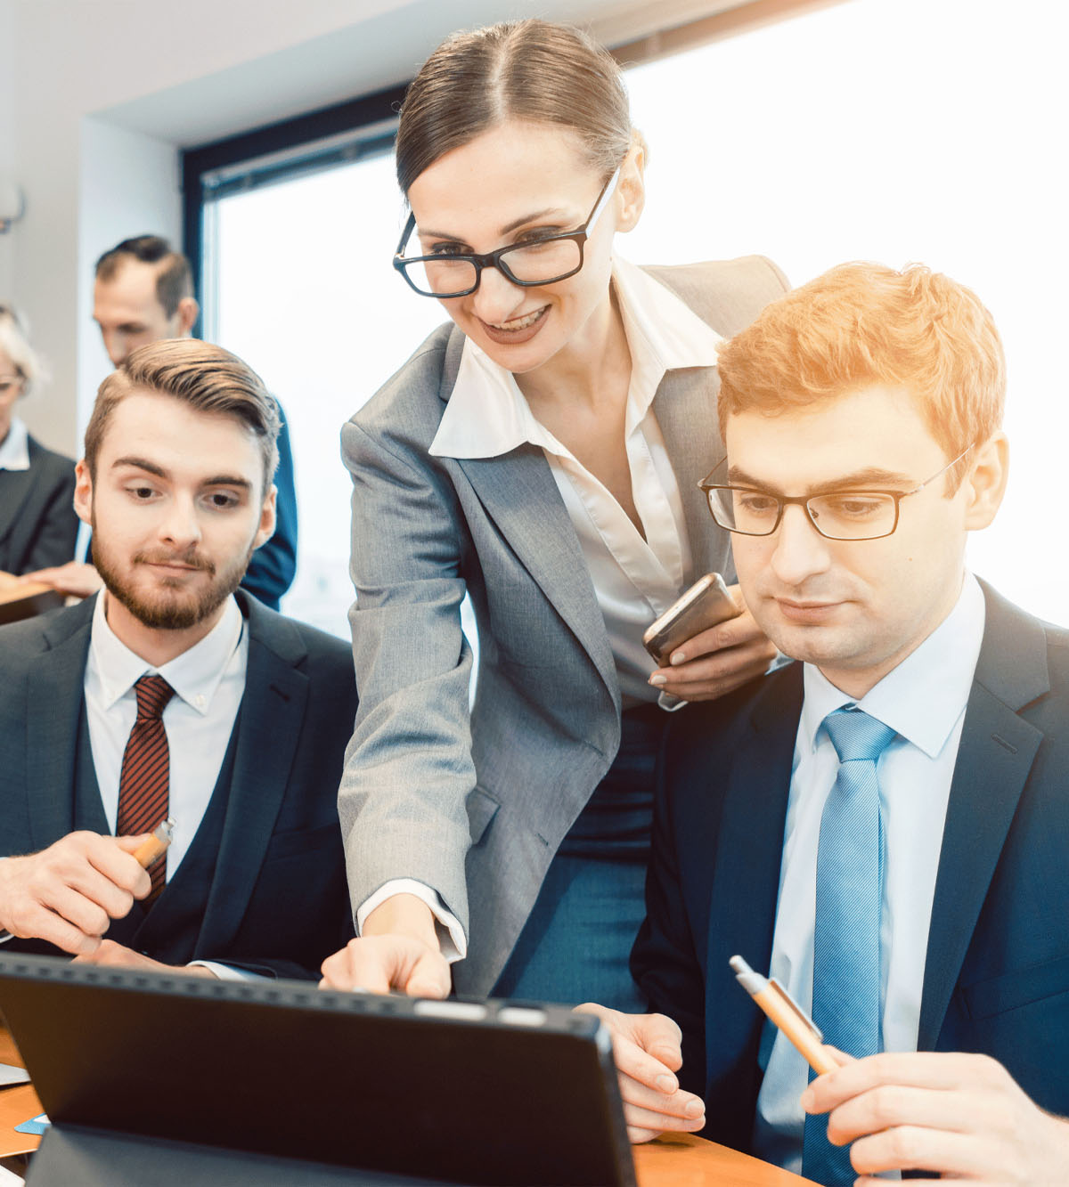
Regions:
<instances>
[{"instance_id":1,"label":"short ginger hair of the man wearing glasses","mask_svg":"<svg viewBox=\"0 0 1069 1187\"><path fill-rule=\"evenodd\" d=\"M842 264L767 305L719 350L720 431L874 383L907 389L948 458L1002 423L1006 360L980 298L923 265ZM953 494L966 462L947 476Z\"/></svg>"}]
</instances>

